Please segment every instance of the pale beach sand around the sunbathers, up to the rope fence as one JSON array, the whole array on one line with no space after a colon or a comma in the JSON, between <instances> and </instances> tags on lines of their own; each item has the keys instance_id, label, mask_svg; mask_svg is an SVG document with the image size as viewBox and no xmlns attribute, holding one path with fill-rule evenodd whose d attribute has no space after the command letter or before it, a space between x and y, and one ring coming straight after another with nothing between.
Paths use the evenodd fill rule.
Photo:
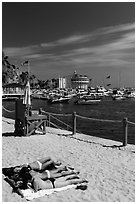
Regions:
<instances>
[{"instance_id":1,"label":"pale beach sand around the sunbathers, up to the rope fence","mask_svg":"<svg viewBox=\"0 0 137 204\"><path fill-rule=\"evenodd\" d=\"M14 120L2 118L2 167L10 167L50 156L80 171L85 191L68 189L33 202L135 202L135 146L65 130L47 128L45 135L14 137ZM4 133L8 133L5 134ZM2 201L26 202L12 192L2 177Z\"/></svg>"}]
</instances>

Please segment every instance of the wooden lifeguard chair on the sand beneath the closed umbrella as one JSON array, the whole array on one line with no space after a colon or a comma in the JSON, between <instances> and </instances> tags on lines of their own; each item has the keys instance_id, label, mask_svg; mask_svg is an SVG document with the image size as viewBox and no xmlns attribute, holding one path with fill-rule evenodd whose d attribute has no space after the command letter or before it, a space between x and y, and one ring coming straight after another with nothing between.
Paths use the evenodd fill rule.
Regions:
<instances>
[{"instance_id":1,"label":"wooden lifeguard chair on the sand beneath the closed umbrella","mask_svg":"<svg viewBox=\"0 0 137 204\"><path fill-rule=\"evenodd\" d=\"M15 135L30 136L35 133L46 133L47 116L40 110L31 110L21 99L15 103Z\"/></svg>"}]
</instances>

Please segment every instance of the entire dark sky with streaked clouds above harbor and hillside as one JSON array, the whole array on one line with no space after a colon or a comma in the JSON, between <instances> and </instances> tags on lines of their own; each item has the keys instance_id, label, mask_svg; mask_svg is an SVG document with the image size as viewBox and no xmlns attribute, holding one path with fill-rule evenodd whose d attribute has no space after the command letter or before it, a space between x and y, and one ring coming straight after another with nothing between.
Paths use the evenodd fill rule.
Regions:
<instances>
[{"instance_id":1,"label":"entire dark sky with streaked clouds above harbor and hillside","mask_svg":"<svg viewBox=\"0 0 137 204\"><path fill-rule=\"evenodd\" d=\"M41 80L76 71L92 86L134 87L135 3L3 2L2 50Z\"/></svg>"}]
</instances>

